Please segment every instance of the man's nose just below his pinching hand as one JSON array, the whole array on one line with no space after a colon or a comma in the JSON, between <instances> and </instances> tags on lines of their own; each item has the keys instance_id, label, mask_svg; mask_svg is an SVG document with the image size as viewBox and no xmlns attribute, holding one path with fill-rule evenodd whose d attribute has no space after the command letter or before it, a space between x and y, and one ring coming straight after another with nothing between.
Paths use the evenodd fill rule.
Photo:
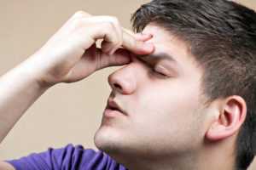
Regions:
<instances>
[{"instance_id":1,"label":"man's nose just below his pinching hand","mask_svg":"<svg viewBox=\"0 0 256 170\"><path fill-rule=\"evenodd\" d=\"M119 94L132 94L137 88L136 69L131 62L108 76L108 83Z\"/></svg>"}]
</instances>

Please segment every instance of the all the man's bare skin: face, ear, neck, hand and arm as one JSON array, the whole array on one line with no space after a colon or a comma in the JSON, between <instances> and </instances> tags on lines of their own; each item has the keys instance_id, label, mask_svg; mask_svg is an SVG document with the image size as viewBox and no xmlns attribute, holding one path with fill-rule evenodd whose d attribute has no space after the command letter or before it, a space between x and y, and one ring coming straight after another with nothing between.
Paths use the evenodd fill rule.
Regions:
<instances>
[{"instance_id":1,"label":"all the man's bare skin: face, ear, neck, hand and arm","mask_svg":"<svg viewBox=\"0 0 256 170\"><path fill-rule=\"evenodd\" d=\"M176 62L149 57L162 53ZM247 112L244 100L230 96L203 105L203 70L187 44L160 26L148 25L143 35L135 35L114 17L81 11L1 77L1 140L47 89L111 65L124 65L108 82L110 99L127 115L102 116L95 135L99 149L132 170L233 169L235 139ZM5 162L0 168L14 169Z\"/></svg>"}]
</instances>

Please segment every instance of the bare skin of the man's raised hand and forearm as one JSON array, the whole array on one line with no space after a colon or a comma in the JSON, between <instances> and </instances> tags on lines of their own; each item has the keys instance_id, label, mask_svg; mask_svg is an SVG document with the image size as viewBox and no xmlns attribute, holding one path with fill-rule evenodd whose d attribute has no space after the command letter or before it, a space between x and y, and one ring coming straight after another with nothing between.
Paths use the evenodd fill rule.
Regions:
<instances>
[{"instance_id":1,"label":"bare skin of the man's raised hand and forearm","mask_svg":"<svg viewBox=\"0 0 256 170\"><path fill-rule=\"evenodd\" d=\"M79 11L35 54L0 78L0 141L26 110L49 88L77 82L93 72L130 61L129 52L151 54L150 35L134 34L112 16ZM96 41L102 48L96 48ZM15 107L14 107L15 105ZM0 162L0 169L14 169Z\"/></svg>"}]
</instances>

